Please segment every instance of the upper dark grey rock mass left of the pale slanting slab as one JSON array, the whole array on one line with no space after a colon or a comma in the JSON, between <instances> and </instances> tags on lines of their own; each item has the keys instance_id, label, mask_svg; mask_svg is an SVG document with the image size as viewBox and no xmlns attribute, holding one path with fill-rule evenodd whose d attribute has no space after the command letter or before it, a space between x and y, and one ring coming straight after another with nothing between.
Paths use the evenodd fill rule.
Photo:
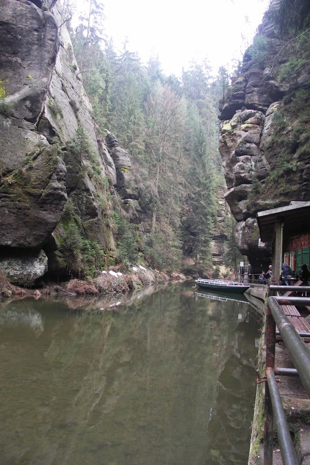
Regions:
<instances>
[{"instance_id":1,"label":"upper dark grey rock mass left of the pale slanting slab","mask_svg":"<svg viewBox=\"0 0 310 465\"><path fill-rule=\"evenodd\" d=\"M6 116L0 116L0 168L16 169L43 140L35 123L43 110L59 49L53 15L26 0L0 2L0 79Z\"/></svg>"}]
</instances>

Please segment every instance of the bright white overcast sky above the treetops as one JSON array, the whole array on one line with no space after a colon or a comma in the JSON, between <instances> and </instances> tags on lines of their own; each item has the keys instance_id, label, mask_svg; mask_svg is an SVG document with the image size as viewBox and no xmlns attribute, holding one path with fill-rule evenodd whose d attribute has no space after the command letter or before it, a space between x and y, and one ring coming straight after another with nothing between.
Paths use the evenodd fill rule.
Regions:
<instances>
[{"instance_id":1,"label":"bright white overcast sky above the treetops","mask_svg":"<svg viewBox=\"0 0 310 465\"><path fill-rule=\"evenodd\" d=\"M103 0L105 33L117 50L127 36L127 49L145 63L151 54L158 55L167 75L179 77L182 66L205 57L216 72L221 65L231 69L231 61L241 58L269 1ZM86 2L76 4L82 10Z\"/></svg>"}]
</instances>

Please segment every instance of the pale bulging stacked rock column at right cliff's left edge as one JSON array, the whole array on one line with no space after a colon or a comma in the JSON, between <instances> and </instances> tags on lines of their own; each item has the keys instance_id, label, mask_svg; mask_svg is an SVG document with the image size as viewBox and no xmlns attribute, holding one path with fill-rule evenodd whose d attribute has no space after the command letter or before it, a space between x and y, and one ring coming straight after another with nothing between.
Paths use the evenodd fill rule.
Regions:
<instances>
[{"instance_id":1,"label":"pale bulging stacked rock column at right cliff's left edge","mask_svg":"<svg viewBox=\"0 0 310 465\"><path fill-rule=\"evenodd\" d=\"M219 139L219 151L229 189L224 198L238 222L236 244L240 252L247 255L251 264L258 269L263 266L264 259L269 262L271 252L269 249L262 254L262 249L258 247L259 233L255 219L258 210L252 208L253 202L257 200L253 192L254 179L261 181L270 173L270 165L260 148L261 140L266 138L265 120L262 111L237 109L231 120L220 123Z\"/></svg>"}]
</instances>

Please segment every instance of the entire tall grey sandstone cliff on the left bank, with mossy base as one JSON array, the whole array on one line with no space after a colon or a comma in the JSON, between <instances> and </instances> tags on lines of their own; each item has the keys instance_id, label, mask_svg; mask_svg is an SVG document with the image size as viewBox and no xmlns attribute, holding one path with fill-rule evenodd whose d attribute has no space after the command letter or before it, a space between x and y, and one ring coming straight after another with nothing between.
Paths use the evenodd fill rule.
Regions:
<instances>
[{"instance_id":1,"label":"entire tall grey sandstone cliff on the left bank, with mossy base","mask_svg":"<svg viewBox=\"0 0 310 465\"><path fill-rule=\"evenodd\" d=\"M129 155L96 138L55 3L0 1L0 267L27 285L47 271L79 274L100 249L112 263L114 186L128 218L141 220Z\"/></svg>"}]
</instances>

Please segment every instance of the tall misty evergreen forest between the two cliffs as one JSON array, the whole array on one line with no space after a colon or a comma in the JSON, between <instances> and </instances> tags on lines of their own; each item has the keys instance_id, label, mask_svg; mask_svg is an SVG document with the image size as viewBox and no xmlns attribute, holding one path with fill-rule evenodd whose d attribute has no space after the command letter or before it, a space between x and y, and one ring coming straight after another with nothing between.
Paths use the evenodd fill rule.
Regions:
<instances>
[{"instance_id":1,"label":"tall misty evergreen forest between the two cliffs","mask_svg":"<svg viewBox=\"0 0 310 465\"><path fill-rule=\"evenodd\" d=\"M117 52L104 34L102 6L89 0L88 7L89 14L70 27L79 73L92 103L97 137L106 137L106 130L113 133L130 154L144 213L141 225L129 223L110 186L116 263L137 262L140 252L160 270L213 272L210 244L217 198L225 189L217 107L228 87L227 70L221 67L213 76L204 60L183 69L181 79L166 76L158 56L144 65L129 51L127 40ZM71 16L68 11L65 15ZM225 239L231 238L230 224L227 218ZM237 251L233 235L226 242L232 265Z\"/></svg>"}]
</instances>

